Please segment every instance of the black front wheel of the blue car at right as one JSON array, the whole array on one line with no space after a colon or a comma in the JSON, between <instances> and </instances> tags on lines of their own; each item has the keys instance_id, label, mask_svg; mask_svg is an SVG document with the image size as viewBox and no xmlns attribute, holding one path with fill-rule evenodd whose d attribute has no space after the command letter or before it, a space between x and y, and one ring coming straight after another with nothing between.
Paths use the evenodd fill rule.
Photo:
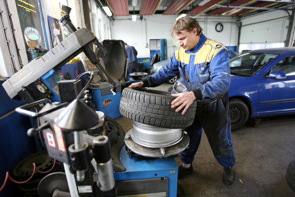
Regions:
<instances>
[{"instance_id":1,"label":"black front wheel of the blue car at right","mask_svg":"<svg viewBox=\"0 0 295 197\"><path fill-rule=\"evenodd\" d=\"M230 100L229 107L231 130L234 131L243 127L246 123L249 117L249 109L247 105L239 99Z\"/></svg>"}]
</instances>

